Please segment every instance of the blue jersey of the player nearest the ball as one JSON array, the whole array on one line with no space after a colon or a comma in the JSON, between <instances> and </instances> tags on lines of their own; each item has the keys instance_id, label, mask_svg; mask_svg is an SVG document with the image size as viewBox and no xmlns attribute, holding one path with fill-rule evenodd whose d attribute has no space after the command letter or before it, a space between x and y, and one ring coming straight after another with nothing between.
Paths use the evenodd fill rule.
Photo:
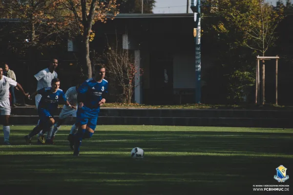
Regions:
<instances>
[{"instance_id":1,"label":"blue jersey of the player nearest the ball","mask_svg":"<svg viewBox=\"0 0 293 195\"><path fill-rule=\"evenodd\" d=\"M100 110L99 102L102 100L102 95L108 93L108 81L102 79L97 82L93 78L89 78L77 89L77 100L83 102L84 107Z\"/></svg>"}]
</instances>

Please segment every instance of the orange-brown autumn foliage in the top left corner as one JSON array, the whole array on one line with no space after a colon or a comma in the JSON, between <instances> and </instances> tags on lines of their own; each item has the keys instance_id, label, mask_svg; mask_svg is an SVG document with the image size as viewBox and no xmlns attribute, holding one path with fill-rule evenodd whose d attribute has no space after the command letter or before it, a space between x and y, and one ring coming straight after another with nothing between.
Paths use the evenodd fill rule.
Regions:
<instances>
[{"instance_id":1,"label":"orange-brown autumn foliage in the top left corner","mask_svg":"<svg viewBox=\"0 0 293 195\"><path fill-rule=\"evenodd\" d=\"M70 20L62 16L64 11L56 7L55 0L3 0L1 13L5 18L18 19L11 28L15 33L14 43L19 46L47 46L56 44Z\"/></svg>"}]
</instances>

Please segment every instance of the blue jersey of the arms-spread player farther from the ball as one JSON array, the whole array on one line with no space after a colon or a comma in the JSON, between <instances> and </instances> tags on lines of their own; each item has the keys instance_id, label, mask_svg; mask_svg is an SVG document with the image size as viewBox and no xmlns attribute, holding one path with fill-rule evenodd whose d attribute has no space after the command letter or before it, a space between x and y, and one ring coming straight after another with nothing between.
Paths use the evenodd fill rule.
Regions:
<instances>
[{"instance_id":1,"label":"blue jersey of the arms-spread player farther from the ball","mask_svg":"<svg viewBox=\"0 0 293 195\"><path fill-rule=\"evenodd\" d=\"M58 108L58 104L64 104L66 102L65 95L61 89L53 93L51 87L45 87L38 90L38 94L42 95L38 109L43 108L49 112L54 112Z\"/></svg>"}]
</instances>

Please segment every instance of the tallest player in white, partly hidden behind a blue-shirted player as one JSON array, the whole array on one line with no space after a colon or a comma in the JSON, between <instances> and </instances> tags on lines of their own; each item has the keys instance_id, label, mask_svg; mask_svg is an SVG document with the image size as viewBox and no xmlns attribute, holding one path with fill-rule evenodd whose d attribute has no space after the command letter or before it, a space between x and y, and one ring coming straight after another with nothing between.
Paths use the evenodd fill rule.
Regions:
<instances>
[{"instance_id":1,"label":"tallest player in white, partly hidden behind a blue-shirted player","mask_svg":"<svg viewBox=\"0 0 293 195\"><path fill-rule=\"evenodd\" d=\"M38 80L38 86L37 91L45 88L45 87L51 87L51 81L53 78L57 78L57 73L55 72L56 68L58 67L58 59L52 59L49 63L49 67L41 70L39 73L37 73L34 77ZM38 94L35 97L36 100L36 107L38 109L39 102L42 98L42 95ZM40 122L40 120L39 120ZM38 122L38 124L39 124ZM44 136L42 135L42 131L38 135L40 141L42 143L45 143Z\"/></svg>"}]
</instances>

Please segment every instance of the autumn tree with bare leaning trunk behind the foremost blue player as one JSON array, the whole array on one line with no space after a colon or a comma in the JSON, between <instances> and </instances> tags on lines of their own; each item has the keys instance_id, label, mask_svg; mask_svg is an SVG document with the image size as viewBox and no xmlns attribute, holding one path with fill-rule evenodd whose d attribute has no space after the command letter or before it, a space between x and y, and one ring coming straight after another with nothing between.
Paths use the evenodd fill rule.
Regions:
<instances>
[{"instance_id":1,"label":"autumn tree with bare leaning trunk behind the foremost blue player","mask_svg":"<svg viewBox=\"0 0 293 195\"><path fill-rule=\"evenodd\" d=\"M116 0L56 0L54 3L57 7L70 11L68 15L64 15L64 18L71 19L71 23L67 26L70 28L71 36L78 36L81 40L80 63L87 68L87 76L91 78L89 42L94 37L92 25L95 22L105 22L107 14L111 14L113 19L119 13Z\"/></svg>"}]
</instances>

